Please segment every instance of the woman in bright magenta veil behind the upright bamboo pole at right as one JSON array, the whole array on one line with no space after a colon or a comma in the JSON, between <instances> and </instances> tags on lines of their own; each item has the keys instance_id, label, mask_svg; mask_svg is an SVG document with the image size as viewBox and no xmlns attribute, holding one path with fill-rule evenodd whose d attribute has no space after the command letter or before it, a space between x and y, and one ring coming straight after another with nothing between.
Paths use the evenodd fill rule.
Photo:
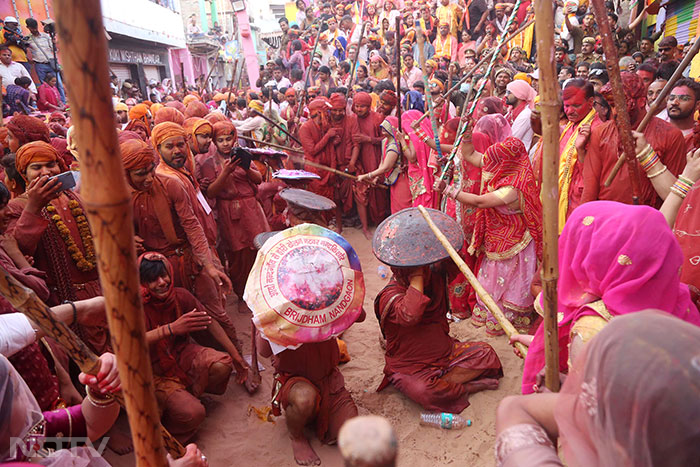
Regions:
<instances>
[{"instance_id":1,"label":"woman in bright magenta veil behind the upright bamboo pole at right","mask_svg":"<svg viewBox=\"0 0 700 467\"><path fill-rule=\"evenodd\" d=\"M656 209L613 201L576 208L559 238L560 371L568 370L574 336L585 343L615 316L653 308L700 326L688 286L679 279L682 262L678 241ZM542 368L540 325L525 358L523 394L536 390Z\"/></svg>"}]
</instances>

